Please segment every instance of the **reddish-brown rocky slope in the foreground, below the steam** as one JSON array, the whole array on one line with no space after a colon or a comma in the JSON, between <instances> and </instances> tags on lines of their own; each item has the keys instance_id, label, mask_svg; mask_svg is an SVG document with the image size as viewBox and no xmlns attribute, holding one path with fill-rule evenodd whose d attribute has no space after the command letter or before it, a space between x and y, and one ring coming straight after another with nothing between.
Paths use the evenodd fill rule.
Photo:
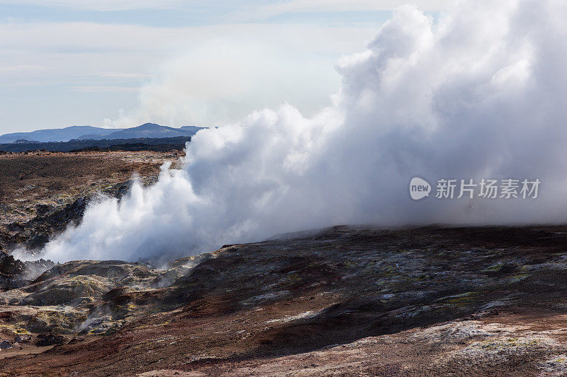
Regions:
<instances>
[{"instance_id":1,"label":"reddish-brown rocky slope in the foreground, below the steam","mask_svg":"<svg viewBox=\"0 0 567 377\"><path fill-rule=\"evenodd\" d=\"M563 376L567 226L337 226L0 294L0 373Z\"/></svg>"}]
</instances>

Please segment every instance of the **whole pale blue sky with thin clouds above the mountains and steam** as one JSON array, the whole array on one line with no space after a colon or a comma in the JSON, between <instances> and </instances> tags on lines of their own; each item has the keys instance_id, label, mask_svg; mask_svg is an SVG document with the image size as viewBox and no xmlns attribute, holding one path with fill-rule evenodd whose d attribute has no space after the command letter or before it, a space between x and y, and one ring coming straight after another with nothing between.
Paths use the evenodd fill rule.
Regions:
<instances>
[{"instance_id":1,"label":"whole pale blue sky with thin clouds above the mountains and steam","mask_svg":"<svg viewBox=\"0 0 567 377\"><path fill-rule=\"evenodd\" d=\"M415 0L435 15L450 0ZM223 124L339 88L398 0L0 0L0 134Z\"/></svg>"}]
</instances>

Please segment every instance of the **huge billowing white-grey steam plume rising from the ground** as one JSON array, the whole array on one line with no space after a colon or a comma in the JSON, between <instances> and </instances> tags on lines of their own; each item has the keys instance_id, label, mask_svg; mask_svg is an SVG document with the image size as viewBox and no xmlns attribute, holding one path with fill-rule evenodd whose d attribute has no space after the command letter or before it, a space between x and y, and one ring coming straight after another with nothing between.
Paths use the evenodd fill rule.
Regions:
<instances>
[{"instance_id":1,"label":"huge billowing white-grey steam plume rising from the ground","mask_svg":"<svg viewBox=\"0 0 567 377\"><path fill-rule=\"evenodd\" d=\"M91 204L46 257L171 258L332 224L567 220L567 4L463 1L434 22L400 8L337 69L332 108L291 105L198 132L184 168ZM538 199L425 199L414 176L539 178Z\"/></svg>"}]
</instances>

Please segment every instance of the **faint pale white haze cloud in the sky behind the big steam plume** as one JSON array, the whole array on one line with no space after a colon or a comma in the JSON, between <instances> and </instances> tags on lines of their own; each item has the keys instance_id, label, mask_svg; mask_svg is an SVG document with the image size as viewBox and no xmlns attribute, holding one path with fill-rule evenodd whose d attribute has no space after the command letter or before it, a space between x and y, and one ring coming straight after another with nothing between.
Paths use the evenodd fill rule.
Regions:
<instances>
[{"instance_id":1,"label":"faint pale white haze cloud in the sky behind the big steam plume","mask_svg":"<svg viewBox=\"0 0 567 377\"><path fill-rule=\"evenodd\" d=\"M336 44L345 37L341 30L325 34ZM142 86L137 109L105 124L127 126L152 120L212 125L286 101L301 104L299 108L307 113L329 105L329 96L339 85L332 59L306 51L315 49L313 40L303 47L287 47L283 35L267 40L225 38L193 47L164 63L152 81ZM325 49L323 42L317 45Z\"/></svg>"}]
</instances>

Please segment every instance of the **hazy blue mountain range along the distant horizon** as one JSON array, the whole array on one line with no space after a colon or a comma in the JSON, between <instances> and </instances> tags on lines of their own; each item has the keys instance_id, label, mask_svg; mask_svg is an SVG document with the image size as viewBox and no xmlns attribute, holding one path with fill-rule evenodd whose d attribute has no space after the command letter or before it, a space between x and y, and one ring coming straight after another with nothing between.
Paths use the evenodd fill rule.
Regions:
<instances>
[{"instance_id":1,"label":"hazy blue mountain range along the distant horizon","mask_svg":"<svg viewBox=\"0 0 567 377\"><path fill-rule=\"evenodd\" d=\"M192 136L198 130L206 127L183 126L180 128L160 126L155 123L145 123L141 126L125 129L108 129L91 126L72 126L56 129L38 129L32 132L14 132L0 136L0 144L21 143L23 141L69 141L79 140L114 140L114 139L141 139L149 137L152 139L162 137L186 137Z\"/></svg>"}]
</instances>

